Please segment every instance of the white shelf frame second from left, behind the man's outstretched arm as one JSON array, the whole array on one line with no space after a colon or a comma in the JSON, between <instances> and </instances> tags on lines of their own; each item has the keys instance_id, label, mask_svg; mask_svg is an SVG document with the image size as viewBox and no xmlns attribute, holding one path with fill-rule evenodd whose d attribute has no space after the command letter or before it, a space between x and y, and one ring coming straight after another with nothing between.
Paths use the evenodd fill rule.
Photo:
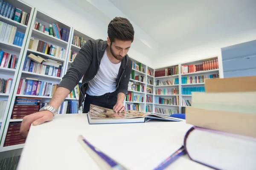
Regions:
<instances>
[{"instance_id":1,"label":"white shelf frame second from left, behind the man's outstretched arm","mask_svg":"<svg viewBox=\"0 0 256 170\"><path fill-rule=\"evenodd\" d=\"M26 34L24 37L24 41L23 41L23 46L21 47L21 52L19 55L19 60L18 60L18 65L17 65L17 69L15 71L15 81L13 82L13 88L12 88L12 95L10 95L10 97L12 98L11 102L9 103L9 109L8 111L6 111L6 125L3 131L3 137L1 140L1 145L0 148L2 148L2 150L12 150L12 149L17 149L17 148L21 148L24 145L20 144L20 145L14 145L11 147L3 147L3 143L6 137L6 133L7 133L7 129L6 127L9 126L9 122L21 122L22 119L11 119L12 116L12 110L13 110L13 106L15 103L15 99L17 96L23 96L23 97L40 97L42 98L41 102L49 102L51 97L49 96L32 96L32 95L23 95L23 94L17 94L17 90L18 90L18 86L19 86L19 82L20 79L25 79L26 77L30 77L30 78L36 78L39 81L44 81L44 82L51 82L52 84L59 84L61 82L61 77L64 76L64 70L65 70L65 66L67 65L67 54L68 54L68 48L70 45L70 39L71 39L71 34L68 38L68 42L64 41L64 40L60 40L58 38L55 38L53 36L49 36L47 34L44 34L41 31L35 30L35 22L38 21L39 23L44 24L47 28L49 28L49 24L52 23L57 23L59 28L67 28L70 30L70 32L72 31L72 27L68 26L67 24L55 19L54 17L49 16L48 14L45 14L43 11L37 10L35 8L30 7L31 11L29 11L30 13L30 18L29 18L29 25L27 26L26 29ZM22 9L22 8L21 8ZM57 58L54 56L49 56L48 54L43 54L41 52L38 51L34 51L29 49L29 41L30 38L33 37L34 39L38 39L38 40L42 40L44 42L49 43L49 45L57 45L61 48L65 48L66 49L66 53L63 54L63 59L61 58ZM44 75L44 74L38 74L38 73L32 73L29 71L23 71L23 65L25 64L25 59L26 59L26 55L29 54L35 54L38 55L40 57L43 57L45 59L54 59L56 61L59 61L62 63L62 69L61 69L61 74L60 77L54 77L54 76L49 76L49 75ZM67 99L71 99L71 98L67 98Z\"/></svg>"}]
</instances>

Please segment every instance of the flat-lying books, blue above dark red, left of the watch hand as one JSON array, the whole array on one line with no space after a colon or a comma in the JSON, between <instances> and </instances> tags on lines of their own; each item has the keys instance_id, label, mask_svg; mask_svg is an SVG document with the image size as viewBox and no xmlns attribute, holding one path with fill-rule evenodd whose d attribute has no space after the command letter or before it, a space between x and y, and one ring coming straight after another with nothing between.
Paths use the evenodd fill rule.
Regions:
<instances>
[{"instance_id":1,"label":"flat-lying books, blue above dark red, left of the watch hand","mask_svg":"<svg viewBox=\"0 0 256 170\"><path fill-rule=\"evenodd\" d=\"M17 97L12 110L12 119L23 119L32 113L36 113L40 108L41 98Z\"/></svg>"}]
</instances>

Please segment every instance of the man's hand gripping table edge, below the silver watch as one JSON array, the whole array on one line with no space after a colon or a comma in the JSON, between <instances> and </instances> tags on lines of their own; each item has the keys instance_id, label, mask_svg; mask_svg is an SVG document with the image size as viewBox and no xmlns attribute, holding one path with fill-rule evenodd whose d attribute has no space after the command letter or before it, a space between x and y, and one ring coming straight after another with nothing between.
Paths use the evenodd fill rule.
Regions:
<instances>
[{"instance_id":1,"label":"man's hand gripping table edge, below the silver watch","mask_svg":"<svg viewBox=\"0 0 256 170\"><path fill-rule=\"evenodd\" d=\"M51 121L53 117L54 116L50 111L41 111L25 116L23 118L23 121L21 122L20 133L26 138L29 133L29 128L31 124L40 125L44 122Z\"/></svg>"}]
</instances>

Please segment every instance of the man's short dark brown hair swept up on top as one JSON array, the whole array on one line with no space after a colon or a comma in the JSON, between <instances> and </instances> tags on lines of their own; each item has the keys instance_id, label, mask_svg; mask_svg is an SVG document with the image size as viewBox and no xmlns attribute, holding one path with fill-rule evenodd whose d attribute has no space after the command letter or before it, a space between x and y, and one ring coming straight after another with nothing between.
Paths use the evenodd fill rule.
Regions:
<instances>
[{"instance_id":1,"label":"man's short dark brown hair swept up on top","mask_svg":"<svg viewBox=\"0 0 256 170\"><path fill-rule=\"evenodd\" d=\"M108 24L108 37L111 42L115 39L133 42L134 28L126 18L115 17Z\"/></svg>"}]
</instances>

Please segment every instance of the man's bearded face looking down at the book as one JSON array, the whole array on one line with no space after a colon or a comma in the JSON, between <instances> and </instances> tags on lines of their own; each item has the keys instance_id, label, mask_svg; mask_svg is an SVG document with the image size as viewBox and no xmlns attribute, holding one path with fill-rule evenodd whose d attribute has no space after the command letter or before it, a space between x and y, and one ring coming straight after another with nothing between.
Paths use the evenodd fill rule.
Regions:
<instances>
[{"instance_id":1,"label":"man's bearded face looking down at the book","mask_svg":"<svg viewBox=\"0 0 256 170\"><path fill-rule=\"evenodd\" d=\"M110 42L108 39L108 45L110 46L111 54L116 59L122 60L131 47L131 41L115 40L114 42Z\"/></svg>"}]
</instances>

